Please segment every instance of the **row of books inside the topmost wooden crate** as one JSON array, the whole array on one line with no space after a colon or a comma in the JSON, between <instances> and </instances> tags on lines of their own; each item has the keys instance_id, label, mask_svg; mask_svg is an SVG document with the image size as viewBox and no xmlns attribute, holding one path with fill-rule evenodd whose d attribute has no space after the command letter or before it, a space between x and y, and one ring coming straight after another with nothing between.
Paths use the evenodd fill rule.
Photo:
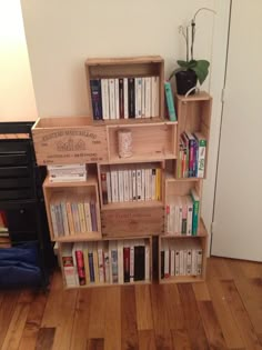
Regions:
<instances>
[{"instance_id":1,"label":"row of books inside the topmost wooden crate","mask_svg":"<svg viewBox=\"0 0 262 350\"><path fill-rule=\"evenodd\" d=\"M91 79L94 120L159 117L159 77Z\"/></svg>"}]
</instances>

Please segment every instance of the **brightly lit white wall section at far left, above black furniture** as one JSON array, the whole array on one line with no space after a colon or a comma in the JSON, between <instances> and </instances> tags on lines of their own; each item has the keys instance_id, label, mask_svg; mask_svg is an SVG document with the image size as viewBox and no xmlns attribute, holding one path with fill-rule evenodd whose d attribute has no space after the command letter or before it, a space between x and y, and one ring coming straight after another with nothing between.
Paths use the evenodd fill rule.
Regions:
<instances>
[{"instance_id":1,"label":"brightly lit white wall section at far left, above black furniture","mask_svg":"<svg viewBox=\"0 0 262 350\"><path fill-rule=\"evenodd\" d=\"M0 121L36 119L20 1L0 0Z\"/></svg>"}]
</instances>

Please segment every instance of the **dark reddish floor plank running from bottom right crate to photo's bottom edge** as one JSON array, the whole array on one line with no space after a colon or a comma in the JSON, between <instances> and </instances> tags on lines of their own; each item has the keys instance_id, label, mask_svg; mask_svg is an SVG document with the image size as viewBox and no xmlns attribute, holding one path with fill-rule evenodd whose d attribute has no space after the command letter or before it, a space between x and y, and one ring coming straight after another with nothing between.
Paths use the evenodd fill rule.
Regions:
<instances>
[{"instance_id":1,"label":"dark reddish floor plank running from bottom right crate to photo's bottom edge","mask_svg":"<svg viewBox=\"0 0 262 350\"><path fill-rule=\"evenodd\" d=\"M192 286L179 284L179 293L182 301L184 324L189 333L191 348L194 350L209 349Z\"/></svg>"}]
</instances>

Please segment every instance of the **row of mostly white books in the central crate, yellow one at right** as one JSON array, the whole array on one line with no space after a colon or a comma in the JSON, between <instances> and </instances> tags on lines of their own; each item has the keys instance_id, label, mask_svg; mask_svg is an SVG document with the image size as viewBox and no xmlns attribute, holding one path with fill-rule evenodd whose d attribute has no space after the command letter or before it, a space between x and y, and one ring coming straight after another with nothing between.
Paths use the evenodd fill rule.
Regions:
<instances>
[{"instance_id":1,"label":"row of mostly white books in the central crate, yellow one at right","mask_svg":"<svg viewBox=\"0 0 262 350\"><path fill-rule=\"evenodd\" d=\"M110 166L101 171L103 203L161 199L162 170L153 164Z\"/></svg>"}]
</instances>

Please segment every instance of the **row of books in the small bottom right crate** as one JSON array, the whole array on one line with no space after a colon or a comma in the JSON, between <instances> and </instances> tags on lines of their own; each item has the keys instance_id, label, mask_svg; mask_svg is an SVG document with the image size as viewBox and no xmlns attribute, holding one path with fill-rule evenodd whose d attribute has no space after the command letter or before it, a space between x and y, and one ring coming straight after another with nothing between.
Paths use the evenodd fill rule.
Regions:
<instances>
[{"instance_id":1,"label":"row of books in the small bottom right crate","mask_svg":"<svg viewBox=\"0 0 262 350\"><path fill-rule=\"evenodd\" d=\"M161 247L161 278L201 276L202 258L200 241L164 239Z\"/></svg>"}]
</instances>

